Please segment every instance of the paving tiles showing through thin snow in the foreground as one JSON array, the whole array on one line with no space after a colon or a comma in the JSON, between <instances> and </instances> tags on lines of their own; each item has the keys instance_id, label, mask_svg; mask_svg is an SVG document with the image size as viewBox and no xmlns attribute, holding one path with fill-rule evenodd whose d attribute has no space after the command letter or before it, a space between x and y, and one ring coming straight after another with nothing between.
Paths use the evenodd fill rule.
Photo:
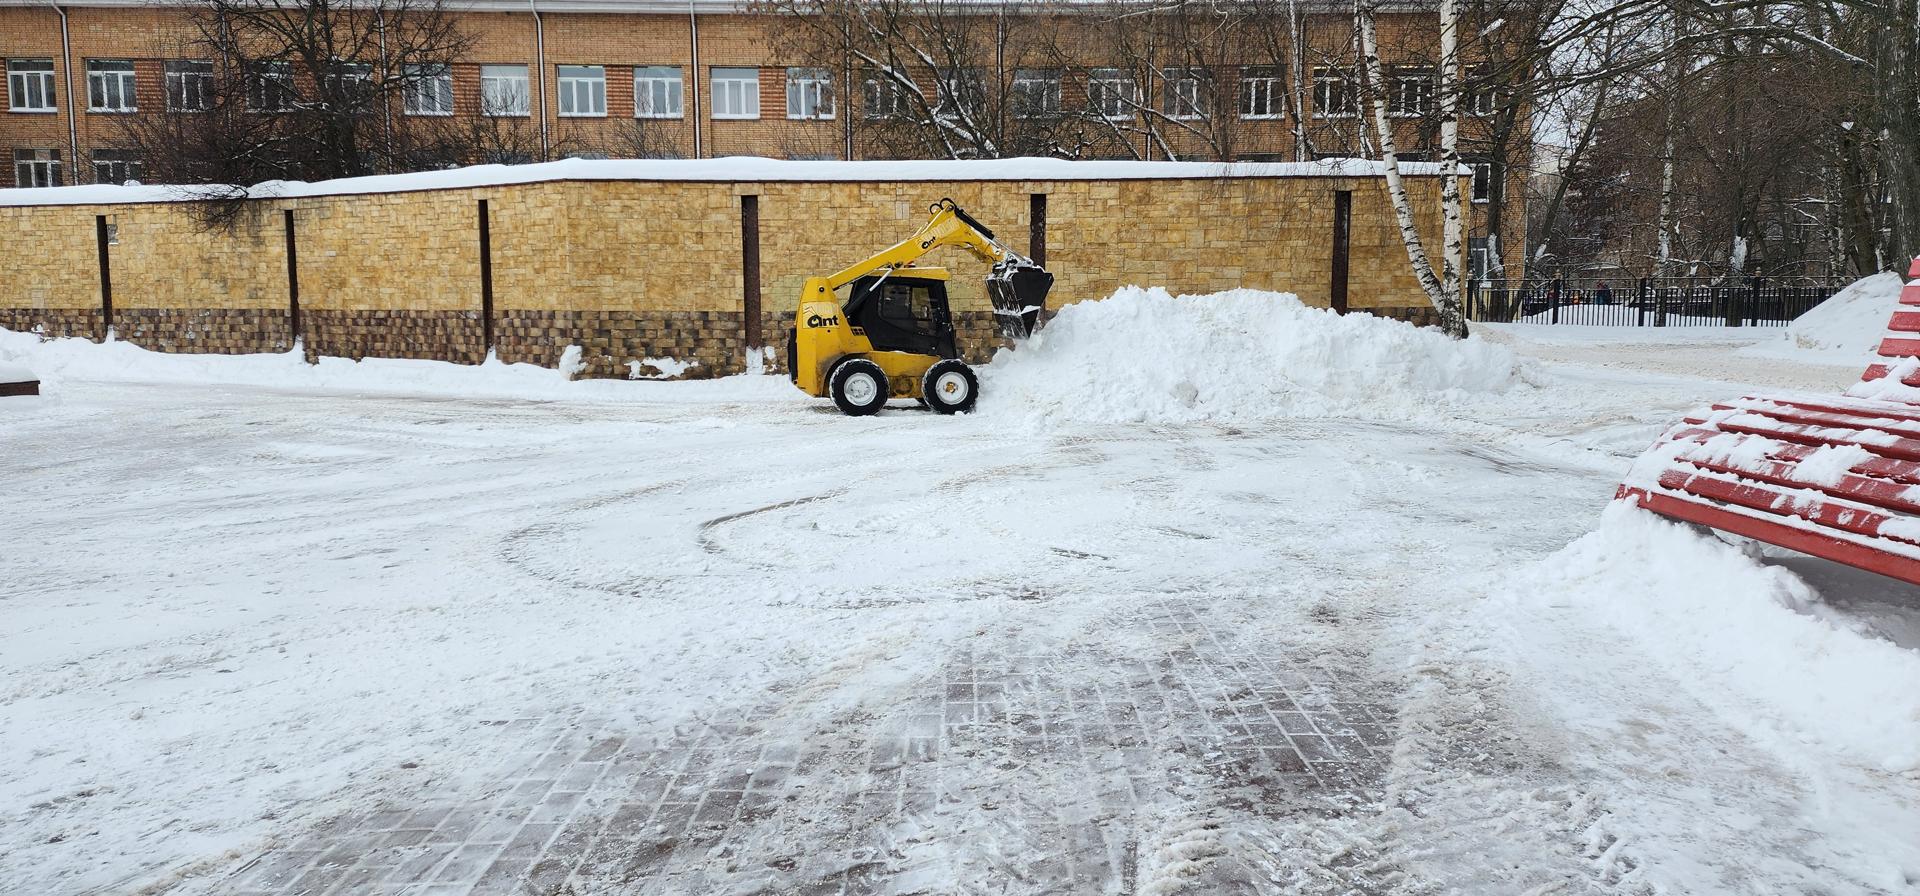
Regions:
<instances>
[{"instance_id":1,"label":"paving tiles showing through thin snow in the foreground","mask_svg":"<svg viewBox=\"0 0 1920 896\"><path fill-rule=\"evenodd\" d=\"M484 794L338 817L234 896L1135 892L1140 815L1365 812L1392 696L1204 599L1116 620L1150 650L981 639L895 706L795 727L785 695L666 733L488 723Z\"/></svg>"}]
</instances>

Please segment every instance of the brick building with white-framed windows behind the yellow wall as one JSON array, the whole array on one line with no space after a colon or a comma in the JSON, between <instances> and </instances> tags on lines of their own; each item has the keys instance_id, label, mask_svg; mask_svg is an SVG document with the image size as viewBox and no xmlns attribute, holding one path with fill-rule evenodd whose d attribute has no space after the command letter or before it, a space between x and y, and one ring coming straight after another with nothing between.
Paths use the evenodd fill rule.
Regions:
<instances>
[{"instance_id":1,"label":"brick building with white-framed windows behind the yellow wall","mask_svg":"<svg viewBox=\"0 0 1920 896\"><path fill-rule=\"evenodd\" d=\"M457 163L933 155L900 140L925 125L904 111L899 84L877 79L851 52L826 50L797 17L755 10L735 0L472 0L457 13L470 35L468 58L434 71L388 117L484 125L490 144L447 159ZM1131 23L1125 33L1102 33L1096 15L1054 19L1031 29L1050 35L1044 48L1000 40L995 58L960 69L970 83L1008 98L983 104L1000 125L1014 125L1004 129L1012 136L995 144L996 153L1202 161L1369 155L1350 81L1346 6L1323 6L1296 23L1290 46L1300 59L1261 50L1261 35L1246 33L1200 48L1204 65L1171 65L1154 56L1164 50L1133 50L1139 27ZM1396 65L1398 140L1407 157L1428 159L1432 130L1423 123L1432 90L1421 84L1430 84L1436 19L1417 6L1400 8L1382 13L1380 29L1382 56ZM192 109L209 84L211 63L194 35L182 8L150 0L0 0L8 75L0 152L10 161L0 186L140 178L127 125ZM941 94L922 106L933 115L947 104L947 86L960 84L918 81L929 84L920 90ZM1471 98L1463 121L1469 152L1475 140L1486 144L1492 109L1480 107L1480 98ZM1050 132L1068 121L1075 130L1069 140L1023 142L1018 125L1033 121L1054 123ZM1513 152L1482 150L1467 159L1476 175L1476 246L1484 244L1490 207L1503 200L1507 209L1496 211L1503 244L1519 246L1519 148L1526 146L1523 125L1496 144Z\"/></svg>"}]
</instances>

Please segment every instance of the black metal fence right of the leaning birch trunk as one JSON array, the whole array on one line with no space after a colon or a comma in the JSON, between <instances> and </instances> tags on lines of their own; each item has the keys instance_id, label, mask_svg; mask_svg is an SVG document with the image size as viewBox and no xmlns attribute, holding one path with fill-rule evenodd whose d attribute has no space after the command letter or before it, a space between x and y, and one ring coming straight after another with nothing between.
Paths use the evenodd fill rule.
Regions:
<instances>
[{"instance_id":1,"label":"black metal fence right of the leaning birch trunk","mask_svg":"<svg viewBox=\"0 0 1920 896\"><path fill-rule=\"evenodd\" d=\"M1847 280L1645 276L1640 280L1471 280L1467 317L1588 326L1786 326Z\"/></svg>"}]
</instances>

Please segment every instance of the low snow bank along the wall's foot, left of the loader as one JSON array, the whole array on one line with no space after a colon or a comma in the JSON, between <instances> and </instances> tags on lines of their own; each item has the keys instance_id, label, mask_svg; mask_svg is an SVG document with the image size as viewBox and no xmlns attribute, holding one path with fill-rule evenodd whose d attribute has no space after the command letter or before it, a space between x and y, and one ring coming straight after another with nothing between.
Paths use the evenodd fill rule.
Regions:
<instances>
[{"instance_id":1,"label":"low snow bank along the wall's foot, left of the loader","mask_svg":"<svg viewBox=\"0 0 1920 896\"><path fill-rule=\"evenodd\" d=\"M682 388L674 391L666 391L664 384L574 380L586 368L578 345L568 345L555 359L557 368L507 365L492 355L482 365L340 357L321 357L317 365L309 365L300 349L278 355L188 355L148 351L117 340L106 343L77 338L48 340L0 328L0 365L4 363L33 366L50 391L73 380L574 401L797 397L785 376L728 376L680 384Z\"/></svg>"}]
</instances>

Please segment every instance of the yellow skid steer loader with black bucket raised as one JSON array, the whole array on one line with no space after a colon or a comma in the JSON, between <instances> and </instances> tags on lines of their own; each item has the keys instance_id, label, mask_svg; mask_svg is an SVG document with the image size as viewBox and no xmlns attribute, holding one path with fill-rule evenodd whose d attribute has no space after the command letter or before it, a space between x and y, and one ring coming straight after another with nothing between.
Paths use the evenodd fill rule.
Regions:
<instances>
[{"instance_id":1,"label":"yellow skid steer loader with black bucket raised","mask_svg":"<svg viewBox=\"0 0 1920 896\"><path fill-rule=\"evenodd\" d=\"M918 234L831 276L808 276L787 332L787 370L808 395L831 397L847 414L877 413L887 399L920 399L954 414L973 407L979 378L960 361L945 269L914 267L922 255L960 246L993 263L987 297L1002 334L1033 334L1054 286L1033 259L1014 253L952 200L933 203ZM837 292L851 286L847 301Z\"/></svg>"}]
</instances>

